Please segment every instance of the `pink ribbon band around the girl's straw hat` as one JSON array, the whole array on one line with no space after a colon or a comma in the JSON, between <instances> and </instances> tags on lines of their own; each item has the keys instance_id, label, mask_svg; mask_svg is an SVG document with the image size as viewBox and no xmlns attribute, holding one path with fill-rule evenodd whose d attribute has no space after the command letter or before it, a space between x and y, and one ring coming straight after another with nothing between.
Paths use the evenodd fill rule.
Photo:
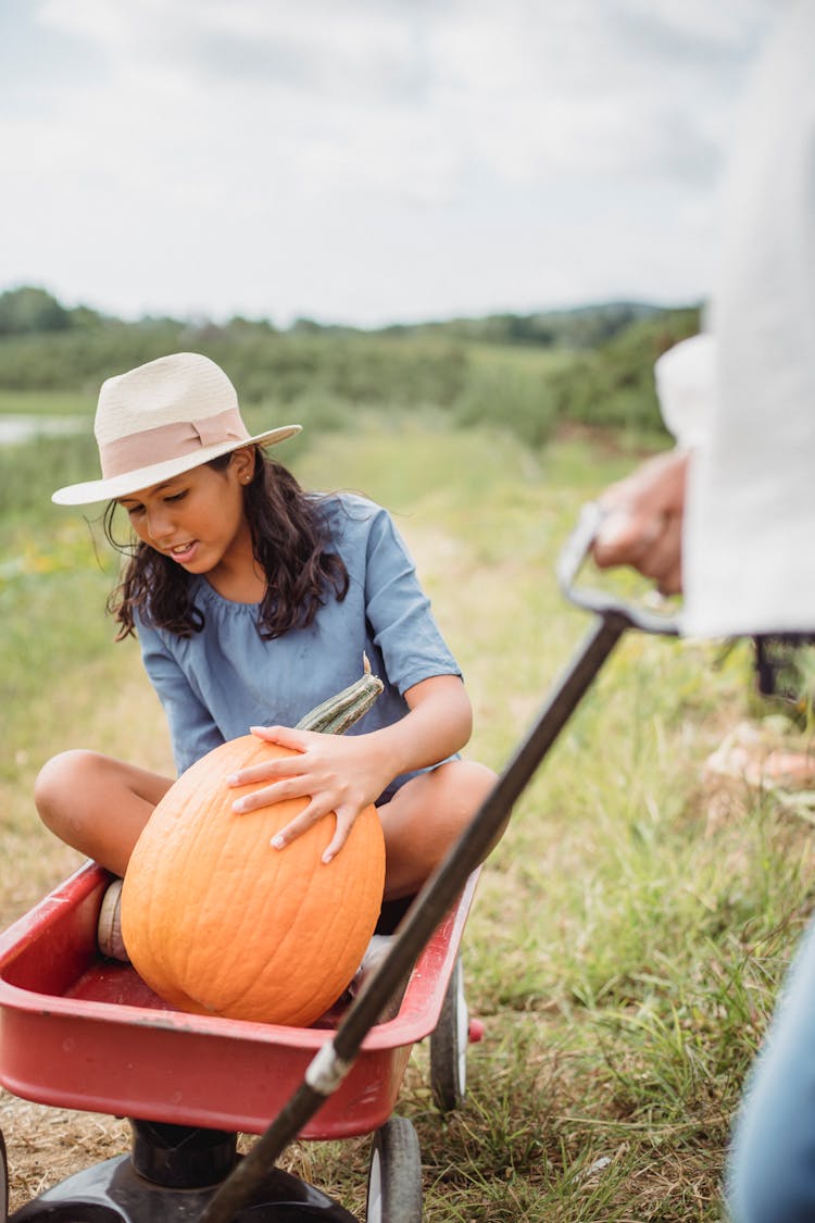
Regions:
<instances>
[{"instance_id":1,"label":"pink ribbon band around the girl's straw hat","mask_svg":"<svg viewBox=\"0 0 815 1223\"><path fill-rule=\"evenodd\" d=\"M99 443L101 475L105 479L126 476L139 467L152 467L167 459L181 459L217 446L224 442L248 442L247 427L236 407L199 421L171 421L154 429L142 429L112 442Z\"/></svg>"}]
</instances>

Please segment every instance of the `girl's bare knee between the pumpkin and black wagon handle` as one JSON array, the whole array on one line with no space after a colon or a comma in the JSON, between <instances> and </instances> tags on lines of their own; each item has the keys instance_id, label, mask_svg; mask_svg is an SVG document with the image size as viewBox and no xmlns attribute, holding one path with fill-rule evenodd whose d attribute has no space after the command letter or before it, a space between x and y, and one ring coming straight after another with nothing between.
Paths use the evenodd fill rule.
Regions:
<instances>
[{"instance_id":1,"label":"girl's bare knee between the pumpkin and black wagon handle","mask_svg":"<svg viewBox=\"0 0 815 1223\"><path fill-rule=\"evenodd\" d=\"M385 833L385 899L419 890L458 840L495 784L474 761L448 761L420 773L379 808Z\"/></svg>"}]
</instances>

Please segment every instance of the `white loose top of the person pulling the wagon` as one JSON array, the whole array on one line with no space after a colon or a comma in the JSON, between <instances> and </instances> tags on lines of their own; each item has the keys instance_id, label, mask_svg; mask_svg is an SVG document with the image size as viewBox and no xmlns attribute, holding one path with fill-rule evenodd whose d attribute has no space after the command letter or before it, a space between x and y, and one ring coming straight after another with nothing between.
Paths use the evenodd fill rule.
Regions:
<instances>
[{"instance_id":1,"label":"white loose top of the person pulling the wagon","mask_svg":"<svg viewBox=\"0 0 815 1223\"><path fill-rule=\"evenodd\" d=\"M727 183L715 341L685 341L656 369L666 423L696 448L683 626L692 636L811 631L815 0L786 9L761 56Z\"/></svg>"}]
</instances>

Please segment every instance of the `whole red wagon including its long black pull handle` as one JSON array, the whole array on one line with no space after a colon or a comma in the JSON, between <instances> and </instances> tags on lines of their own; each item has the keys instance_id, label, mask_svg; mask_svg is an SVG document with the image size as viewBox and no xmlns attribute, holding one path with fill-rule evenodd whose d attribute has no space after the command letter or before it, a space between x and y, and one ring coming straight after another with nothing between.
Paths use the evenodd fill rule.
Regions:
<instances>
[{"instance_id":1,"label":"whole red wagon including its long black pull handle","mask_svg":"<svg viewBox=\"0 0 815 1223\"><path fill-rule=\"evenodd\" d=\"M64 1181L18 1210L15 1223L354 1223L274 1164L297 1132L370 1131L368 1223L420 1219L418 1141L391 1109L411 1048L425 1036L436 1102L447 1109L461 1101L469 1025L458 948L478 866L619 638L629 629L678 632L670 618L574 588L598 521L599 510L588 506L558 564L565 594L593 613L593 626L335 1032L167 1009L132 969L99 960L97 916L109 876L97 867L79 871L0 937L0 1082L43 1103L128 1115L134 1134L130 1157ZM397 1015L376 1022L408 970ZM237 1130L264 1131L242 1162Z\"/></svg>"}]
</instances>

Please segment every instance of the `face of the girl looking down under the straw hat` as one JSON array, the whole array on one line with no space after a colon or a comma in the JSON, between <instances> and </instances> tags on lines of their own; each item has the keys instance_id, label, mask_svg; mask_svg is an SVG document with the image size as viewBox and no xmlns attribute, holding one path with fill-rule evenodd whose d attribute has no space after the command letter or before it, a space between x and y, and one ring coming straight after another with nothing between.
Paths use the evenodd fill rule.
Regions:
<instances>
[{"instance_id":1,"label":"face of the girl looking down under the straw hat","mask_svg":"<svg viewBox=\"0 0 815 1223\"><path fill-rule=\"evenodd\" d=\"M247 564L252 567L243 486L253 470L254 451L235 450L222 471L204 464L119 500L136 534L150 548L189 574L228 578Z\"/></svg>"}]
</instances>

